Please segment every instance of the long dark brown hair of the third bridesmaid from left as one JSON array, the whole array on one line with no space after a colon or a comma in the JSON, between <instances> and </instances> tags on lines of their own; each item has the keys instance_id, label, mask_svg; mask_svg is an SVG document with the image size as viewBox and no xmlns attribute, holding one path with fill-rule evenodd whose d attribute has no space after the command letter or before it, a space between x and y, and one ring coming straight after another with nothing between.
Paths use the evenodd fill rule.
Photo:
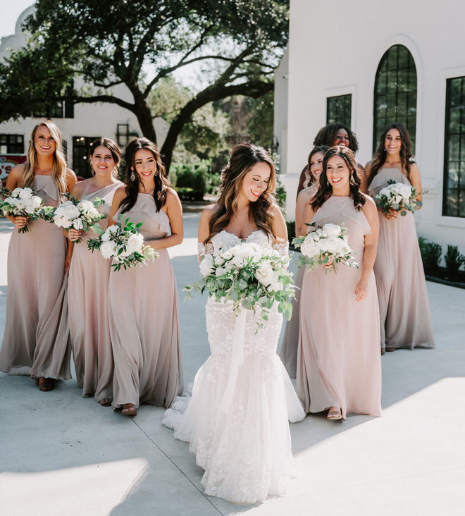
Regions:
<instances>
[{"instance_id":1,"label":"long dark brown hair of the third bridesmaid from left","mask_svg":"<svg viewBox=\"0 0 465 516\"><path fill-rule=\"evenodd\" d=\"M126 145L124 159L125 159L125 178L124 183L128 195L120 202L121 213L129 211L137 201L139 194L139 185L142 183L139 174L135 168L135 153L140 149L147 149L154 156L156 163L156 176L154 177L155 189L154 199L156 211L160 211L166 203L166 192L171 187L171 183L166 178L165 167L161 163L159 149L157 149L154 142L151 142L146 137L133 138L128 145ZM131 180L132 172L134 172L135 180Z\"/></svg>"}]
</instances>

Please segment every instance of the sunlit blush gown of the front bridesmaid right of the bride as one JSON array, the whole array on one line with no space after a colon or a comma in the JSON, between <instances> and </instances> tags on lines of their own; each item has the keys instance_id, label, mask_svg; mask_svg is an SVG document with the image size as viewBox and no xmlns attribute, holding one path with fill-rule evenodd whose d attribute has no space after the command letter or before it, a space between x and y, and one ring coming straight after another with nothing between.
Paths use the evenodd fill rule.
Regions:
<instances>
[{"instance_id":1,"label":"sunlit blush gown of the front bridesmaid right of the bride","mask_svg":"<svg viewBox=\"0 0 465 516\"><path fill-rule=\"evenodd\" d=\"M345 226L360 269L344 264L304 274L297 355L297 394L306 412L340 407L348 413L381 415L380 318L373 272L366 299L355 302L364 235L371 232L352 197L330 197L314 215L318 226Z\"/></svg>"}]
</instances>

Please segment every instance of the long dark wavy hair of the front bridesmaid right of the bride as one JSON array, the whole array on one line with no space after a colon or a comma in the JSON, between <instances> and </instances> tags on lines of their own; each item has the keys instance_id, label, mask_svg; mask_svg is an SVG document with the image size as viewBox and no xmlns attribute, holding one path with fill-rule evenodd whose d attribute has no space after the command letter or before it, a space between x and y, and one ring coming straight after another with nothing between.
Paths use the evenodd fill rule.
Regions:
<instances>
[{"instance_id":1,"label":"long dark wavy hair of the front bridesmaid right of the bride","mask_svg":"<svg viewBox=\"0 0 465 516\"><path fill-rule=\"evenodd\" d=\"M326 152L325 158L323 159L323 172L320 176L320 186L318 188L318 192L316 192L313 202L311 202L311 207L314 209L314 211L316 211L323 205L325 201L331 197L331 195L333 195L333 187L331 186L330 182L328 181L328 177L326 176L328 161L333 156L340 156L349 168L349 195L352 197L354 207L357 210L361 210L361 207L365 204L365 196L360 191L360 178L356 173L357 165L355 156L351 149L348 147L343 147L342 145L331 147L328 152Z\"/></svg>"}]
</instances>

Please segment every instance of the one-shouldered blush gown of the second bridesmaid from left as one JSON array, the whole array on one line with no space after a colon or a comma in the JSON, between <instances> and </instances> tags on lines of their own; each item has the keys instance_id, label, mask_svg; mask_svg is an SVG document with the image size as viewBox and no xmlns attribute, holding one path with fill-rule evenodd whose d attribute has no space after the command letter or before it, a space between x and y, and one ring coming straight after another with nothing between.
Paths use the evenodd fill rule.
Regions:
<instances>
[{"instance_id":1,"label":"one-shouldered blush gown of the second bridesmaid from left","mask_svg":"<svg viewBox=\"0 0 465 516\"><path fill-rule=\"evenodd\" d=\"M105 203L97 209L108 217L113 195L122 184L120 181L112 183L83 195L80 200L103 199ZM108 219L101 219L99 225L106 229ZM74 245L68 306L77 385L82 388L82 396L94 395L100 402L103 398L113 398L113 351L108 316L111 262L99 252L87 249L90 238L97 235L88 231L82 235L82 242Z\"/></svg>"}]
</instances>

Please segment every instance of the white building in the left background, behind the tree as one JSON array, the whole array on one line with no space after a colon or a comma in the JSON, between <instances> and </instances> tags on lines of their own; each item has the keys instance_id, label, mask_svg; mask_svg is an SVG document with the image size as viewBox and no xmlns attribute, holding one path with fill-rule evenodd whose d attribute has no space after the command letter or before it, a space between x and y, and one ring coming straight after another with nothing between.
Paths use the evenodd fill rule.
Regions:
<instances>
[{"instance_id":1,"label":"white building in the left background, behind the tree","mask_svg":"<svg viewBox=\"0 0 465 516\"><path fill-rule=\"evenodd\" d=\"M21 30L24 20L34 12L30 6L20 14L16 23L16 33L4 37L0 42L0 59L8 54L8 49L25 44ZM113 88L113 93L132 102L129 90L124 85ZM19 121L0 123L0 154L25 154L32 129L44 118L51 118L61 130L68 156L68 166L78 176L89 176L85 156L89 144L97 137L109 137L123 147L133 136L142 135L137 118L127 109L116 104L68 104L58 103L52 109L44 108L42 116L21 118ZM163 118L156 118L155 129L159 147L168 132L168 124ZM3 177L6 171L0 163Z\"/></svg>"}]
</instances>

